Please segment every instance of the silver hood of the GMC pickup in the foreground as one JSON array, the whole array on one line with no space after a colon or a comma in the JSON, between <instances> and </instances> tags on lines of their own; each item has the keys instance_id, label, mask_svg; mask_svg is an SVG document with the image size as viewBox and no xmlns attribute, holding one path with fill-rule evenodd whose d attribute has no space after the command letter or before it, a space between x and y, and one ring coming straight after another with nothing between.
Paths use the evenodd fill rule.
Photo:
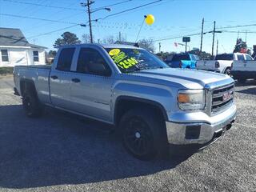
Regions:
<instances>
[{"instance_id":1,"label":"silver hood of the GMC pickup in the foreground","mask_svg":"<svg viewBox=\"0 0 256 192\"><path fill-rule=\"evenodd\" d=\"M202 87L213 88L234 82L232 78L225 74L218 74L202 70L190 69L156 69L141 70L135 72L134 75L145 78L153 78L155 80L163 80L165 82L178 83L188 89L202 89Z\"/></svg>"}]
</instances>

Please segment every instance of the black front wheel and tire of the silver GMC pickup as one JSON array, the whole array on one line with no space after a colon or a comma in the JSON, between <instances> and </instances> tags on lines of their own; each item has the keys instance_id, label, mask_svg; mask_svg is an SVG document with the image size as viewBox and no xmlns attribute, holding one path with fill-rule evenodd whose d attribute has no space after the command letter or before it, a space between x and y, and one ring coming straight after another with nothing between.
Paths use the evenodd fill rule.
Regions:
<instances>
[{"instance_id":1,"label":"black front wheel and tire of the silver GMC pickup","mask_svg":"<svg viewBox=\"0 0 256 192\"><path fill-rule=\"evenodd\" d=\"M122 143L135 158L150 160L166 149L165 126L150 109L135 108L122 116Z\"/></svg>"}]
</instances>

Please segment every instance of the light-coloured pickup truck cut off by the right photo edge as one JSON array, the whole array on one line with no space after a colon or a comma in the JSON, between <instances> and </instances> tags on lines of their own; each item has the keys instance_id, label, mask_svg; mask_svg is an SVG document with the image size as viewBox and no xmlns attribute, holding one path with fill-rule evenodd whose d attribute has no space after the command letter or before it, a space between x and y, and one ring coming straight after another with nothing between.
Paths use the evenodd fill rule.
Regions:
<instances>
[{"instance_id":1,"label":"light-coloured pickup truck cut off by the right photo edge","mask_svg":"<svg viewBox=\"0 0 256 192\"><path fill-rule=\"evenodd\" d=\"M246 82L246 80L250 78L256 80L256 61L249 57L242 62L234 61L231 68L231 74L234 79L238 79L238 82Z\"/></svg>"}]
</instances>

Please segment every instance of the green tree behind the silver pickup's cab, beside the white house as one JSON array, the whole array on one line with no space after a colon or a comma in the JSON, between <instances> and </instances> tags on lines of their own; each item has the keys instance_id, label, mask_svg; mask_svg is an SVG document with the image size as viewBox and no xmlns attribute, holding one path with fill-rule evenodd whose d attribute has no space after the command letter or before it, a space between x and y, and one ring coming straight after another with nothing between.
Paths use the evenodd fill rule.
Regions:
<instances>
[{"instance_id":1,"label":"green tree behind the silver pickup's cab, beside the white house","mask_svg":"<svg viewBox=\"0 0 256 192\"><path fill-rule=\"evenodd\" d=\"M62 38L56 39L54 42L54 48L63 46L63 45L70 45L70 44L80 44L81 41L78 39L76 34L72 34L70 32L65 32L62 34Z\"/></svg>"}]
</instances>

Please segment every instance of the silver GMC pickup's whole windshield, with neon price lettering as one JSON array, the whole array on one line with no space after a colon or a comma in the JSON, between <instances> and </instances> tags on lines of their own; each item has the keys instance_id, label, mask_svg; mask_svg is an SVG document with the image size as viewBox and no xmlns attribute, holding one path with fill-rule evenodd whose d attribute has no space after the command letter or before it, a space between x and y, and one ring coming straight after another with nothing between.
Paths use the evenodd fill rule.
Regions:
<instances>
[{"instance_id":1,"label":"silver GMC pickup's whole windshield, with neon price lettering","mask_svg":"<svg viewBox=\"0 0 256 192\"><path fill-rule=\"evenodd\" d=\"M169 67L146 50L131 48L106 48L105 50L122 73Z\"/></svg>"}]
</instances>

